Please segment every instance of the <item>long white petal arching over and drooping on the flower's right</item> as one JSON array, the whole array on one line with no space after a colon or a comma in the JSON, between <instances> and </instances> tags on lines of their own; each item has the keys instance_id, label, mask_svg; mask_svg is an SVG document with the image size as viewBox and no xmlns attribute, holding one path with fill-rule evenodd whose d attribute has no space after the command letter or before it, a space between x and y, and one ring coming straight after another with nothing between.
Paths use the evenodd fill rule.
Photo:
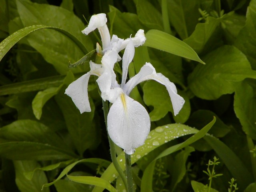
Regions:
<instances>
[{"instance_id":1,"label":"long white petal arching over and drooping on the flower's right","mask_svg":"<svg viewBox=\"0 0 256 192\"><path fill-rule=\"evenodd\" d=\"M124 86L123 90L126 94L130 94L131 90L140 82L146 81L146 80L155 80L159 82L160 84L166 86L166 89L169 93L169 96L171 98L172 107L174 111L174 115L176 116L182 106L185 103L185 100L177 94L177 88L174 83L170 82L168 78L166 78L161 73L156 73L155 68L150 64L146 63L141 69L138 74L136 74L133 78L131 78Z\"/></svg>"}]
</instances>

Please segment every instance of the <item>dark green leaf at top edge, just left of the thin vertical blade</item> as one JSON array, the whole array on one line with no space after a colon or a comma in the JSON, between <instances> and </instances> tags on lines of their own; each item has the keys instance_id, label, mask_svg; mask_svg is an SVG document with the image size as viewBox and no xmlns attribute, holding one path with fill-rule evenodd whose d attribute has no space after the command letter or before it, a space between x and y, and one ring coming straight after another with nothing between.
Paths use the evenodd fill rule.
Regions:
<instances>
[{"instance_id":1,"label":"dark green leaf at top edge, just left of the thin vertical blade","mask_svg":"<svg viewBox=\"0 0 256 192\"><path fill-rule=\"evenodd\" d=\"M163 30L162 16L148 0L136 0L139 20L150 29Z\"/></svg>"}]
</instances>

